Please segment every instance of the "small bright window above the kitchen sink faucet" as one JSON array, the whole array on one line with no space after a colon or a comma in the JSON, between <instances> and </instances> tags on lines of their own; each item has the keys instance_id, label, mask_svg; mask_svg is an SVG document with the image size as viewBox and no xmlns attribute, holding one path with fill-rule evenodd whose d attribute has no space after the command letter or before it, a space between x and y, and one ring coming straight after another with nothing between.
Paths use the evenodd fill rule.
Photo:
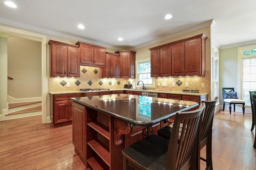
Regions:
<instances>
[{"instance_id":1,"label":"small bright window above the kitchen sink faucet","mask_svg":"<svg viewBox=\"0 0 256 170\"><path fill-rule=\"evenodd\" d=\"M154 78L151 77L150 60L138 61L138 81L142 81L145 87L154 87ZM137 81L137 82L138 82Z\"/></svg>"}]
</instances>

